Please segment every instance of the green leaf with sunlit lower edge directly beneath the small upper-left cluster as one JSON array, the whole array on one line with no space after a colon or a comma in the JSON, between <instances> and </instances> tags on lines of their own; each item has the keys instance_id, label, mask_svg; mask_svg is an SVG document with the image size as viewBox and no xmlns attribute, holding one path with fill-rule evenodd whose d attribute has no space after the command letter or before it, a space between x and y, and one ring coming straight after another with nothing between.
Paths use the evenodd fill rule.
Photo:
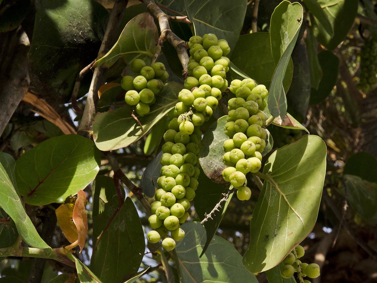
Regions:
<instances>
[{"instance_id":1,"label":"green leaf with sunlit lower edge directly beneath the small upper-left cluster","mask_svg":"<svg viewBox=\"0 0 377 283\"><path fill-rule=\"evenodd\" d=\"M113 112L98 113L93 122L93 139L102 151L124 148L139 140L178 102L178 92L183 86L168 82L159 94L156 102L150 106L150 113L138 117L144 131L131 117L131 106L122 106Z\"/></svg>"}]
</instances>

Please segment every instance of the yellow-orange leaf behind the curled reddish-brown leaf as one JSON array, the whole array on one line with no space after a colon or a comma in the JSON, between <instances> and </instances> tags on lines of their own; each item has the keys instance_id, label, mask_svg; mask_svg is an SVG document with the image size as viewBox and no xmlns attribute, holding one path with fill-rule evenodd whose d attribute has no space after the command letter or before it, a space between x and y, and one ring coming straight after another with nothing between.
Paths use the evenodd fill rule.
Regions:
<instances>
[{"instance_id":1,"label":"yellow-orange leaf behind the curled reddish-brown leaf","mask_svg":"<svg viewBox=\"0 0 377 283\"><path fill-rule=\"evenodd\" d=\"M59 227L61 231L63 231L64 237L66 237L70 243L78 239L77 228L72 218L73 209L73 203L63 203L55 210Z\"/></svg>"}]
</instances>

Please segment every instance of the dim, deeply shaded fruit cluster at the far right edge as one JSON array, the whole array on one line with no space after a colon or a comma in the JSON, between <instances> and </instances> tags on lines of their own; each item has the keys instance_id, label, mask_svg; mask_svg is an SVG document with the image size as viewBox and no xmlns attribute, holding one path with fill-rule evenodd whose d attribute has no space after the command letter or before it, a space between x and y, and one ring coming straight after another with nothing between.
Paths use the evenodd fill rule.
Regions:
<instances>
[{"instance_id":1,"label":"dim, deeply shaded fruit cluster at the far right edge","mask_svg":"<svg viewBox=\"0 0 377 283\"><path fill-rule=\"evenodd\" d=\"M366 39L360 50L360 70L358 87L369 92L377 83L377 42L372 38Z\"/></svg>"}]
</instances>

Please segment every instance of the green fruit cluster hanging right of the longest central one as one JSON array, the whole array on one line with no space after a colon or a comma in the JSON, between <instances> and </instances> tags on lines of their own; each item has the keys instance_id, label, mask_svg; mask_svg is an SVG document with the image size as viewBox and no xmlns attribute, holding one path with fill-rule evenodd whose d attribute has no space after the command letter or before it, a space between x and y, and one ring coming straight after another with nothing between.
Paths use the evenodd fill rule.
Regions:
<instances>
[{"instance_id":1,"label":"green fruit cluster hanging right of the longest central one","mask_svg":"<svg viewBox=\"0 0 377 283\"><path fill-rule=\"evenodd\" d=\"M236 97L228 101L228 117L224 131L229 137L224 141L224 164L229 166L222 171L222 177L237 189L239 200L249 200L246 174L256 173L262 166L262 152L266 146L268 91L264 85L257 85L251 78L233 80L229 87Z\"/></svg>"}]
</instances>

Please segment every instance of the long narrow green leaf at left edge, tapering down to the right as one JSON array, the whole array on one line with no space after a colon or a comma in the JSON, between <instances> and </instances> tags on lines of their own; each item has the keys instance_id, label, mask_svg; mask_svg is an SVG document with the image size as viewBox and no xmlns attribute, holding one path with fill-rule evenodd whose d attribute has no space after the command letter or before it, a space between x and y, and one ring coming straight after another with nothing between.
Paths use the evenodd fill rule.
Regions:
<instances>
[{"instance_id":1,"label":"long narrow green leaf at left edge, tapering down to the right","mask_svg":"<svg viewBox=\"0 0 377 283\"><path fill-rule=\"evenodd\" d=\"M29 216L26 214L14 177L15 161L11 155L0 152L0 206L14 221L18 233L30 246L51 248L41 239Z\"/></svg>"}]
</instances>

